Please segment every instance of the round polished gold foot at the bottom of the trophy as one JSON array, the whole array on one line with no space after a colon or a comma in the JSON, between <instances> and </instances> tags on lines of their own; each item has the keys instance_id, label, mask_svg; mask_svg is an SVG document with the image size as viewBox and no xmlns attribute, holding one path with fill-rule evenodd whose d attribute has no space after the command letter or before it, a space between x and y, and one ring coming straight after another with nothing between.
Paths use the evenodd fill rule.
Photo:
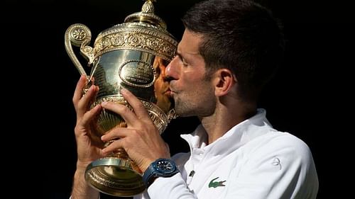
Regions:
<instances>
[{"instance_id":1,"label":"round polished gold foot at the bottom of the trophy","mask_svg":"<svg viewBox=\"0 0 355 199\"><path fill-rule=\"evenodd\" d=\"M114 196L130 197L146 189L142 174L132 168L131 162L116 157L93 161L87 166L85 179L98 191Z\"/></svg>"}]
</instances>

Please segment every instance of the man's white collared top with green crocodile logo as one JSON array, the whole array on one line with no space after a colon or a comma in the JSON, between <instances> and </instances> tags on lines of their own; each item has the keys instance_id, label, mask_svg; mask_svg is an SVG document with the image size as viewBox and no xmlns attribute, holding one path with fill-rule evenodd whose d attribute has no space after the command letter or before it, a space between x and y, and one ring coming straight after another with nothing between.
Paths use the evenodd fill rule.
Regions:
<instances>
[{"instance_id":1,"label":"man's white collared top with green crocodile logo","mask_svg":"<svg viewBox=\"0 0 355 199\"><path fill-rule=\"evenodd\" d=\"M157 178L134 198L316 198L318 178L307 144L273 129L266 110L207 143L202 125L181 135L190 153L175 154L180 173Z\"/></svg>"}]
</instances>

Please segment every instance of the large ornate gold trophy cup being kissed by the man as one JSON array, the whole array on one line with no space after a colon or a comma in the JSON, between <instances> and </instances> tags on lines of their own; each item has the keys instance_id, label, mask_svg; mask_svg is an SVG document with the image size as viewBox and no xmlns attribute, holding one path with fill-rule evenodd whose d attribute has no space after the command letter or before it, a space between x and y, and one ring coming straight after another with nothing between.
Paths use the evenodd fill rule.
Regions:
<instances>
[{"instance_id":1,"label":"large ornate gold trophy cup being kissed by the man","mask_svg":"<svg viewBox=\"0 0 355 199\"><path fill-rule=\"evenodd\" d=\"M159 71L173 59L178 42L166 30L165 22L155 16L152 1L146 0L141 12L126 16L124 23L99 33L94 47L89 46L91 32L87 26L70 25L65 33L65 49L80 74L87 75L72 45L80 47L80 53L92 67L87 87L99 86L92 108L103 101L130 107L120 94L122 88L128 89L141 100L161 134L175 114L170 96L164 94L168 83ZM100 137L114 127L126 127L126 123L118 114L102 110L94 140L106 147L111 142L102 143ZM93 188L109 195L131 196L146 189L142 172L124 149L89 164L85 179Z\"/></svg>"}]
</instances>

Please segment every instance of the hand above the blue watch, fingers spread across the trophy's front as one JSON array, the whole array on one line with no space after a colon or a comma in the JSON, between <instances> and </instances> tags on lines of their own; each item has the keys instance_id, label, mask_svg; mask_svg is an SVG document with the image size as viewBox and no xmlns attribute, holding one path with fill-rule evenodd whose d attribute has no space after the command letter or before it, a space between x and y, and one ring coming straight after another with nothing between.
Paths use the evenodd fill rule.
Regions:
<instances>
[{"instance_id":1,"label":"hand above the blue watch, fingers spread across the trophy's front","mask_svg":"<svg viewBox=\"0 0 355 199\"><path fill-rule=\"evenodd\" d=\"M116 149L123 148L144 172L155 159L170 158L168 145L160 137L143 103L126 89L121 89L121 94L131 105L133 111L119 103L102 103L102 108L121 115L127 124L127 127L116 127L102 136L104 142L115 140L102 152L109 154Z\"/></svg>"}]
</instances>

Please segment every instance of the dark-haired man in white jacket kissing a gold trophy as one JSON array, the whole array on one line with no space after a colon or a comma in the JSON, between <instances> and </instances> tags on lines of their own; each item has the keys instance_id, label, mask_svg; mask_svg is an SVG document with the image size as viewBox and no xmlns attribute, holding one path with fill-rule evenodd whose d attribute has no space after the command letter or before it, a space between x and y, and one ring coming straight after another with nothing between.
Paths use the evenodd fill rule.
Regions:
<instances>
[{"instance_id":1,"label":"dark-haired man in white jacket kissing a gold trophy","mask_svg":"<svg viewBox=\"0 0 355 199\"><path fill-rule=\"evenodd\" d=\"M182 21L185 32L165 75L178 115L197 115L201 125L182 137L190 153L170 158L169 149L141 102L121 93L134 113L116 103L87 111L97 93L73 102L77 111L77 171L72 198L98 198L84 181L91 161L124 148L143 171L148 187L135 198L316 198L318 179L310 149L288 132L273 129L258 96L283 56L283 34L270 11L253 1L210 0L193 6ZM90 144L89 123L102 108L120 114L126 128L102 137L105 149ZM176 168L175 168L176 165Z\"/></svg>"}]
</instances>

